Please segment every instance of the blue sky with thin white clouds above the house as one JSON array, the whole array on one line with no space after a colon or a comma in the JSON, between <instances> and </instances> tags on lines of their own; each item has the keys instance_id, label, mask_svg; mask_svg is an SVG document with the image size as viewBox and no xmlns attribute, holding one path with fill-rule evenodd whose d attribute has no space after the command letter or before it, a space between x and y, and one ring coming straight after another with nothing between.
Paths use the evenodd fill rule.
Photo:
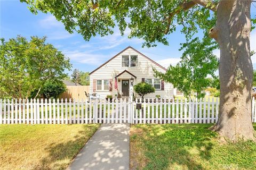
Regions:
<instances>
[{"instance_id":1,"label":"blue sky with thin white clouds above the house","mask_svg":"<svg viewBox=\"0 0 256 170\"><path fill-rule=\"evenodd\" d=\"M251 6L251 16L256 16L256 3ZM119 30L114 28L114 34L106 37L96 36L90 41L85 41L78 33L70 34L63 24L57 21L53 15L39 12L32 14L26 3L17 0L0 0L0 37L15 38L21 35L30 39L30 36L47 36L47 43L53 44L70 58L74 69L81 71L93 71L99 65L109 60L127 46L139 50L149 58L164 67L174 65L180 61L182 52L179 51L180 43L185 43L185 36L177 31L169 35L169 46L161 43L157 47L142 48L142 39L129 39L129 30L121 36ZM256 29L251 32L251 50L256 50ZM219 50L214 50L219 57ZM256 69L256 54L252 57L253 67ZM67 71L67 73L71 73Z\"/></svg>"}]
</instances>

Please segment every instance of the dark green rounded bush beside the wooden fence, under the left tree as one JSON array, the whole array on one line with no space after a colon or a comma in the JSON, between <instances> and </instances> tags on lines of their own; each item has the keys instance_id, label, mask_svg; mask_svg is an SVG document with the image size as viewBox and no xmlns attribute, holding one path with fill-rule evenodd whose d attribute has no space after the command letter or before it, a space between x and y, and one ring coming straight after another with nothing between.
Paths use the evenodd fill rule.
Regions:
<instances>
[{"instance_id":1,"label":"dark green rounded bush beside the wooden fence, under the left tree","mask_svg":"<svg viewBox=\"0 0 256 170\"><path fill-rule=\"evenodd\" d=\"M42 94L45 98L58 98L60 94L67 90L66 85L60 82L47 81L44 83Z\"/></svg>"}]
</instances>

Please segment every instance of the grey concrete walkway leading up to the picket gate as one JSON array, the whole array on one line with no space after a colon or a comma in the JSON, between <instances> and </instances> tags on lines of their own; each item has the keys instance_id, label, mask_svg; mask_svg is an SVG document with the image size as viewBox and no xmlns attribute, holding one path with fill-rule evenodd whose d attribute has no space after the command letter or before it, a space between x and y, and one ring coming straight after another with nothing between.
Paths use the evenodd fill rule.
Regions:
<instances>
[{"instance_id":1,"label":"grey concrete walkway leading up to the picket gate","mask_svg":"<svg viewBox=\"0 0 256 170\"><path fill-rule=\"evenodd\" d=\"M102 124L68 169L128 170L129 132L129 124Z\"/></svg>"}]
</instances>

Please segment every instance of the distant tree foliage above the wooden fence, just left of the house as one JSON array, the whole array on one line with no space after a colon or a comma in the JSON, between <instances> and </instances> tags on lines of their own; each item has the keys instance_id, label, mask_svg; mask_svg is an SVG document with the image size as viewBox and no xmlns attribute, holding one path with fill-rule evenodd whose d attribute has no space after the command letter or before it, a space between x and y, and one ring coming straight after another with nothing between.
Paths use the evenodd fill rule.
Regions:
<instances>
[{"instance_id":1,"label":"distant tree foliage above the wooden fence, just left of the house","mask_svg":"<svg viewBox=\"0 0 256 170\"><path fill-rule=\"evenodd\" d=\"M78 69L74 69L73 73L71 74L71 80L74 83L78 83L82 86L89 86L90 85L89 72L83 72L83 71L79 71Z\"/></svg>"}]
</instances>

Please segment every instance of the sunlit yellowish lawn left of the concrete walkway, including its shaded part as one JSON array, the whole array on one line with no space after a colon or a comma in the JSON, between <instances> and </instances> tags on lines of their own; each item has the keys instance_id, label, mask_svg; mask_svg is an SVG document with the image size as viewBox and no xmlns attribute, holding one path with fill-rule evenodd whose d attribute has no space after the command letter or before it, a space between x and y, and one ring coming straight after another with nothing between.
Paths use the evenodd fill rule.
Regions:
<instances>
[{"instance_id":1,"label":"sunlit yellowish lawn left of the concrete walkway, including its shaded part","mask_svg":"<svg viewBox=\"0 0 256 170\"><path fill-rule=\"evenodd\" d=\"M98 127L0 125L0 169L66 169Z\"/></svg>"}]
</instances>

